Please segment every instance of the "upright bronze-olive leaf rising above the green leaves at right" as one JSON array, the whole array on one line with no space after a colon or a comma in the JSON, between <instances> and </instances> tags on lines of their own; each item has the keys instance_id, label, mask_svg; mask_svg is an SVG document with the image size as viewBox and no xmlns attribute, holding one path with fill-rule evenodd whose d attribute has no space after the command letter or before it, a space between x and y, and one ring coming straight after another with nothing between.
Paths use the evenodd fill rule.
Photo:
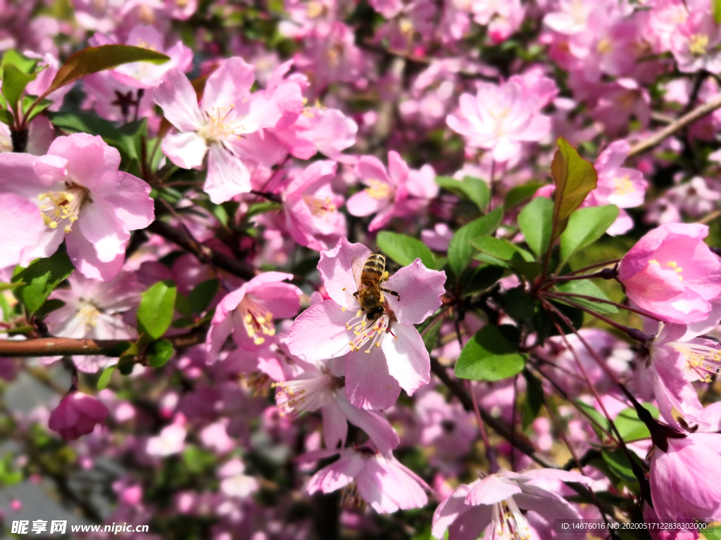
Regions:
<instances>
[{"instance_id":1,"label":"upright bronze-olive leaf rising above the green leaves at right","mask_svg":"<svg viewBox=\"0 0 721 540\"><path fill-rule=\"evenodd\" d=\"M590 162L581 158L568 141L558 138L558 150L551 163L556 190L553 194L553 243L566 228L571 212L580 207L586 196L596 189L598 174Z\"/></svg>"}]
</instances>

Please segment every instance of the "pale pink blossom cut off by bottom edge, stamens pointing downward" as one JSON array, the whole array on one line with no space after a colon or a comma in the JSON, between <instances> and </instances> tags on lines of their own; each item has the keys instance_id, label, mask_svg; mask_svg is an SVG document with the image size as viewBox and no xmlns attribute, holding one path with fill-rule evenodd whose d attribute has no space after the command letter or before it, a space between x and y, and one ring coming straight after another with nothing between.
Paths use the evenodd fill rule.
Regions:
<instances>
[{"instance_id":1,"label":"pale pink blossom cut off by bottom edge, stamens pointing downward","mask_svg":"<svg viewBox=\"0 0 721 540\"><path fill-rule=\"evenodd\" d=\"M531 527L521 510L534 510L551 523L554 519L580 519L578 510L561 495L534 485L534 481L549 480L590 483L588 477L575 472L502 469L456 488L435 509L431 534L442 539L447 530L448 540L462 540L487 531L490 538L530 539Z\"/></svg>"}]
</instances>

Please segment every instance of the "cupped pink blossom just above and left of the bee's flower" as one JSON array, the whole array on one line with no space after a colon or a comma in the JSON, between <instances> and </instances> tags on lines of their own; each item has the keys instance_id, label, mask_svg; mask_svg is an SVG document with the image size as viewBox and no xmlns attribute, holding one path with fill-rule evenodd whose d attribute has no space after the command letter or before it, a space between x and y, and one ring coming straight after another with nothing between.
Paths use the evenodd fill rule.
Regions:
<instances>
[{"instance_id":1,"label":"cupped pink blossom just above and left of the bee's flower","mask_svg":"<svg viewBox=\"0 0 721 540\"><path fill-rule=\"evenodd\" d=\"M334 161L315 161L286 189L286 228L301 246L322 251L348 234L345 215L338 211L343 198L330 187Z\"/></svg>"}]
</instances>

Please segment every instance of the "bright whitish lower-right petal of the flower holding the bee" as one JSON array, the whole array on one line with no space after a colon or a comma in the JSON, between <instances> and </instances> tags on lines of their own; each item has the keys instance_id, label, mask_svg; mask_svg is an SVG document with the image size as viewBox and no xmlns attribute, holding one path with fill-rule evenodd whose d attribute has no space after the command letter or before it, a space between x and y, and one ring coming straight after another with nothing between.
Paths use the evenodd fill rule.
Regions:
<instances>
[{"instance_id":1,"label":"bright whitish lower-right petal of the flower holding the bee","mask_svg":"<svg viewBox=\"0 0 721 540\"><path fill-rule=\"evenodd\" d=\"M381 351L386 355L388 372L408 395L430 381L430 356L423 338L414 326L393 325L381 341Z\"/></svg>"}]
</instances>

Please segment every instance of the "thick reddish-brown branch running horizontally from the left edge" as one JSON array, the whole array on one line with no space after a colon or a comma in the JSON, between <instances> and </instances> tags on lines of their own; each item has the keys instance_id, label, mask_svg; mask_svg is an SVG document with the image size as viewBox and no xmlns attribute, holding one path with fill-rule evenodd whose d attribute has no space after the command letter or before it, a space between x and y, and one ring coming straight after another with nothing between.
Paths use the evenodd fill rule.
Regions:
<instances>
[{"instance_id":1,"label":"thick reddish-brown branch running horizontally from the left edge","mask_svg":"<svg viewBox=\"0 0 721 540\"><path fill-rule=\"evenodd\" d=\"M205 341L205 330L195 330L180 336L167 338L174 348L190 347ZM0 358L18 356L87 356L91 354L109 354L127 339L73 339L39 338L25 341L0 339Z\"/></svg>"}]
</instances>

